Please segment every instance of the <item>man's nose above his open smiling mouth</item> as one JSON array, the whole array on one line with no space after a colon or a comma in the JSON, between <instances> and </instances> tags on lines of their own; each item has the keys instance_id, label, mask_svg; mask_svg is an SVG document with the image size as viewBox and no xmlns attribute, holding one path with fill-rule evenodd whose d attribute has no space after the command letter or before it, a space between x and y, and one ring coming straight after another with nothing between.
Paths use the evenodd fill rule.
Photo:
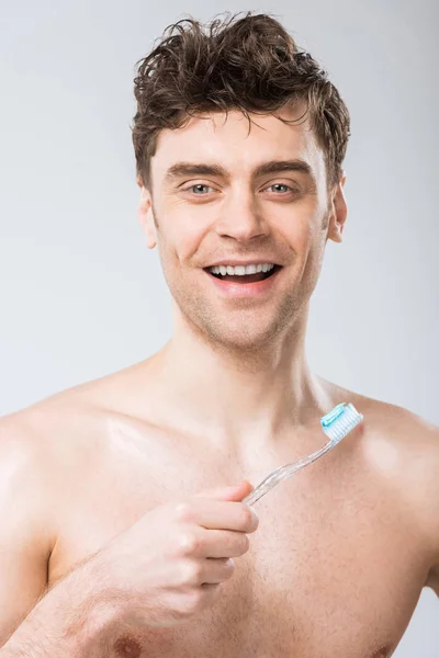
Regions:
<instances>
[{"instance_id":1,"label":"man's nose above his open smiling mouth","mask_svg":"<svg viewBox=\"0 0 439 658\"><path fill-rule=\"evenodd\" d=\"M219 212L215 230L221 237L248 242L269 232L268 223L250 192L230 192L228 198L222 203Z\"/></svg>"}]
</instances>

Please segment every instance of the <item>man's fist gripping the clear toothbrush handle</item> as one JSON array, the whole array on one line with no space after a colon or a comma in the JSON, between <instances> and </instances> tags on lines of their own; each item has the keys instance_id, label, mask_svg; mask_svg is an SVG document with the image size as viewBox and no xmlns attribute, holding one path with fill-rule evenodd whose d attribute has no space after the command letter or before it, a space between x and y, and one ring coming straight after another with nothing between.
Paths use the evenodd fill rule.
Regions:
<instances>
[{"instance_id":1,"label":"man's fist gripping the clear toothbrush handle","mask_svg":"<svg viewBox=\"0 0 439 658\"><path fill-rule=\"evenodd\" d=\"M98 554L124 620L176 626L217 600L259 524L241 502L252 489L244 480L154 508Z\"/></svg>"}]
</instances>

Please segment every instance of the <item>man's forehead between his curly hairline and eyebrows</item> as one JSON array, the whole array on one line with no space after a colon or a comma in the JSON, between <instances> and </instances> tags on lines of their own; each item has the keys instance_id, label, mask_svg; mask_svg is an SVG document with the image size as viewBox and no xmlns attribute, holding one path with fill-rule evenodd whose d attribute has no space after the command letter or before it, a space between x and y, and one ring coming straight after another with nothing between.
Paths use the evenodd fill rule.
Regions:
<instances>
[{"instance_id":1,"label":"man's forehead between his curly hairline and eyebrows","mask_svg":"<svg viewBox=\"0 0 439 658\"><path fill-rule=\"evenodd\" d=\"M164 129L151 159L157 183L164 181L172 163L221 162L230 175L249 175L263 161L297 158L309 164L316 178L324 172L324 154L309 121L300 118L304 107L282 109L275 115L251 114L251 125L239 111L206 113L191 117L183 128ZM285 124L278 118L300 118Z\"/></svg>"}]
</instances>

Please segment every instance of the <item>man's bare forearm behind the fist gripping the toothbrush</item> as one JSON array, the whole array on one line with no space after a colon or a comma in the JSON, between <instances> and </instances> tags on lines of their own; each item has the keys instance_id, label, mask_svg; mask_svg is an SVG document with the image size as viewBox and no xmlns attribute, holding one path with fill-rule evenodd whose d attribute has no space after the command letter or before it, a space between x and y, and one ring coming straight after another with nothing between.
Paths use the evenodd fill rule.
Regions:
<instances>
[{"instance_id":1,"label":"man's bare forearm behind the fist gripping the toothbrush","mask_svg":"<svg viewBox=\"0 0 439 658\"><path fill-rule=\"evenodd\" d=\"M103 658L117 606L94 558L55 585L31 611L0 658Z\"/></svg>"}]
</instances>

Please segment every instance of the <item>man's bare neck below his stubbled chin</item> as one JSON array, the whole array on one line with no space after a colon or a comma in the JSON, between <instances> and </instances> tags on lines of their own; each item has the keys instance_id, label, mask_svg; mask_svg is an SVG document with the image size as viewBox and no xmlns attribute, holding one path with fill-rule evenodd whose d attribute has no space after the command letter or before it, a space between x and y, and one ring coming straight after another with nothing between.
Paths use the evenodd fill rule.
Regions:
<instances>
[{"instance_id":1,"label":"man's bare neck below his stubbled chin","mask_svg":"<svg viewBox=\"0 0 439 658\"><path fill-rule=\"evenodd\" d=\"M305 359L307 314L282 340L252 351L212 345L177 317L154 360L156 394L166 393L183 431L225 443L270 441L318 422L331 402Z\"/></svg>"}]
</instances>

